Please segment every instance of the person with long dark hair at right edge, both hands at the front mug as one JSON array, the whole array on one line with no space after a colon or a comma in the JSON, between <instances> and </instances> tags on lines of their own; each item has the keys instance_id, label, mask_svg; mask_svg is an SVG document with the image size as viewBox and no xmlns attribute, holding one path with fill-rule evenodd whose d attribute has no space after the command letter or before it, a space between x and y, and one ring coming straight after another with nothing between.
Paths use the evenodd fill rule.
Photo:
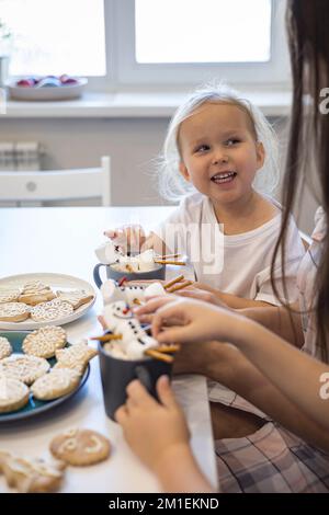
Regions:
<instances>
[{"instance_id":1,"label":"person with long dark hair at right edge, both hands at the front mug","mask_svg":"<svg viewBox=\"0 0 329 515\"><path fill-rule=\"evenodd\" d=\"M172 298L154 299L139 310L144 317L155 311L152 332L160 342L182 342L191 371L220 381L269 415L251 436L216 443L225 492L329 490L329 115L319 105L329 87L328 26L326 0L288 0L293 112L273 272L311 167L322 206L298 275L299 310L283 306L241 314ZM186 425L167 379L159 381L158 390L162 404L137 381L128 387L128 401L116 414L127 442L164 490L209 490L193 460Z\"/></svg>"}]
</instances>

